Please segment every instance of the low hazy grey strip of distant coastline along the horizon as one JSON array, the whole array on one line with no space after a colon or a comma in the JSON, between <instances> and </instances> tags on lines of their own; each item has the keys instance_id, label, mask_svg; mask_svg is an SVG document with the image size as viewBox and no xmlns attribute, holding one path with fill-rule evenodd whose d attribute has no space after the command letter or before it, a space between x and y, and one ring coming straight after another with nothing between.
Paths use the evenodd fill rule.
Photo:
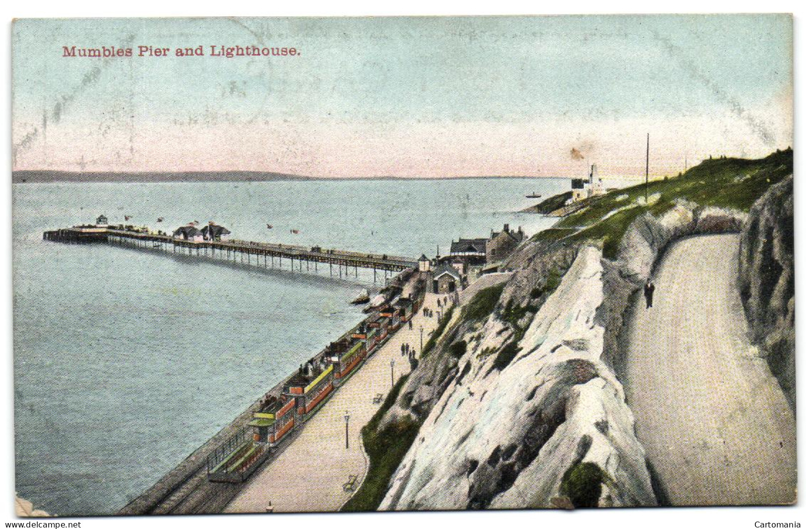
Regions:
<instances>
[{"instance_id":1,"label":"low hazy grey strip of distant coastline along the horizon","mask_svg":"<svg viewBox=\"0 0 806 529\"><path fill-rule=\"evenodd\" d=\"M467 176L467 177L306 177L288 173L270 173L263 171L186 171L186 172L74 172L54 170L22 170L11 173L11 181L15 184L44 184L69 182L120 182L120 183L156 183L156 182L210 182L210 181L336 181L336 180L467 180L474 178L565 178L565 177L523 177L523 176Z\"/></svg>"}]
</instances>

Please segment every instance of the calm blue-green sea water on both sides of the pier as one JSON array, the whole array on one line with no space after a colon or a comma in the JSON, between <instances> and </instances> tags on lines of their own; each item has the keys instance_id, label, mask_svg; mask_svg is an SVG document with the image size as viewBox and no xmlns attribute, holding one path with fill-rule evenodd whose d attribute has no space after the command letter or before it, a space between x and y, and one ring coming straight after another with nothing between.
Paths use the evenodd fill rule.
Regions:
<instances>
[{"instance_id":1,"label":"calm blue-green sea water on both sides of the pier","mask_svg":"<svg viewBox=\"0 0 806 529\"><path fill-rule=\"evenodd\" d=\"M110 514L361 319L349 281L42 232L214 220L244 240L417 257L504 223L566 179L14 185L16 490L56 514ZM163 223L156 223L163 217ZM268 230L266 224L272 224ZM293 235L292 229L299 230Z\"/></svg>"}]
</instances>

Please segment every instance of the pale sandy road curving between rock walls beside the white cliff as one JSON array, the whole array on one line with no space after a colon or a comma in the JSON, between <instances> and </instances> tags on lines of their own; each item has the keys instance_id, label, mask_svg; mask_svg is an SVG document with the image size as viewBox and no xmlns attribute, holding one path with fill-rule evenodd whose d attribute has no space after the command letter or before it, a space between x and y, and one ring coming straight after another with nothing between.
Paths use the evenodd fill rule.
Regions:
<instances>
[{"instance_id":1,"label":"pale sandy road curving between rock walls beside the white cliff","mask_svg":"<svg viewBox=\"0 0 806 529\"><path fill-rule=\"evenodd\" d=\"M796 501L795 417L747 339L738 248L737 235L673 244L654 306L629 321L627 402L671 505Z\"/></svg>"}]
</instances>

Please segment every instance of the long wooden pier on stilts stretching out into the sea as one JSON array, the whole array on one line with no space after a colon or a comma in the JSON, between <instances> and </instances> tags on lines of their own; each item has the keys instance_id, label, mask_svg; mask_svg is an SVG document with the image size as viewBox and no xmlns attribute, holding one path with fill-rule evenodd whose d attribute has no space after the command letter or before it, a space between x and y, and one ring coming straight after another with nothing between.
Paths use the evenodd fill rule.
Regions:
<instances>
[{"instance_id":1,"label":"long wooden pier on stilts stretching out into the sea","mask_svg":"<svg viewBox=\"0 0 806 529\"><path fill-rule=\"evenodd\" d=\"M387 277L388 273L417 267L417 261L409 257L246 240L185 240L123 227L62 228L45 231L43 239L69 244L119 244L161 252L206 256L265 268L276 265L282 268L285 259L294 271L302 271L305 267L307 271L318 272L320 264L325 265L329 267L331 277L334 276L334 266L337 267L335 273L339 277L353 272L358 277L358 269L372 269L376 279L379 270Z\"/></svg>"}]
</instances>

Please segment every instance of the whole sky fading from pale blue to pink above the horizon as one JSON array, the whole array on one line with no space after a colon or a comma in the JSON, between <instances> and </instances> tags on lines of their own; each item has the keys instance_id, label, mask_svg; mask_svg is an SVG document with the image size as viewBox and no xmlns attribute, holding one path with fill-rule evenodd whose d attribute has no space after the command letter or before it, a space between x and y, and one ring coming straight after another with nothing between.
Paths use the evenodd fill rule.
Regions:
<instances>
[{"instance_id":1,"label":"whole sky fading from pale blue to pink above the horizon","mask_svg":"<svg viewBox=\"0 0 806 529\"><path fill-rule=\"evenodd\" d=\"M426 160L439 174L545 174L569 170L572 144L612 151L637 123L670 138L669 160L791 143L788 15L23 19L12 40L17 169L368 176L394 158L401 176ZM301 56L61 56L139 44Z\"/></svg>"}]
</instances>

